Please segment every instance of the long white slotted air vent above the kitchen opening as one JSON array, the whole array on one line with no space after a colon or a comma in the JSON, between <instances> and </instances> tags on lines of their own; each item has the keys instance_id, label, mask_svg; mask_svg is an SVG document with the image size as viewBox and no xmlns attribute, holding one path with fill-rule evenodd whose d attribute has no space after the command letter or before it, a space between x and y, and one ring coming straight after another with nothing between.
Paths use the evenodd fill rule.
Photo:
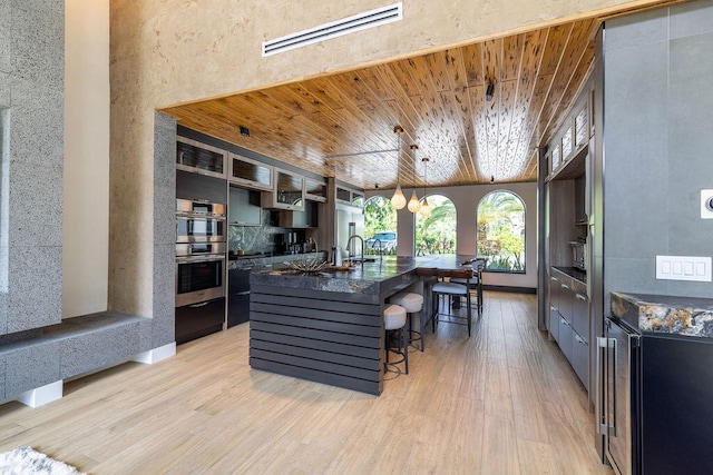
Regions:
<instances>
[{"instance_id":1,"label":"long white slotted air vent above the kitchen opening","mask_svg":"<svg viewBox=\"0 0 713 475\"><path fill-rule=\"evenodd\" d=\"M263 42L263 57L341 37L403 18L401 2Z\"/></svg>"}]
</instances>

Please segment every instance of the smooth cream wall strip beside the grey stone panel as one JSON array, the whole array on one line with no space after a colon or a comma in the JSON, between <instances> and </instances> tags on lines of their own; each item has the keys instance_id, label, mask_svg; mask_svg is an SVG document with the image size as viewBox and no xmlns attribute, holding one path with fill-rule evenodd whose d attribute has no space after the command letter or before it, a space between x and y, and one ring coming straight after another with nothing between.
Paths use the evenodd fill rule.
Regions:
<instances>
[{"instance_id":1,"label":"smooth cream wall strip beside the grey stone panel","mask_svg":"<svg viewBox=\"0 0 713 475\"><path fill-rule=\"evenodd\" d=\"M107 309L109 0L65 2L62 317Z\"/></svg>"}]
</instances>

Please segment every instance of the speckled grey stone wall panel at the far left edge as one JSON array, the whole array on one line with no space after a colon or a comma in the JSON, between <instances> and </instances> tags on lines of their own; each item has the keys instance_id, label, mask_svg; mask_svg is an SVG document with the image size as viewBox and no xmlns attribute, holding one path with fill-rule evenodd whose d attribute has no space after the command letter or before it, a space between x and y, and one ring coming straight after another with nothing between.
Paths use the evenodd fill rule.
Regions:
<instances>
[{"instance_id":1,"label":"speckled grey stone wall panel at the far left edge","mask_svg":"<svg viewBox=\"0 0 713 475\"><path fill-rule=\"evenodd\" d=\"M61 320L64 1L0 1L0 336Z\"/></svg>"}]
</instances>

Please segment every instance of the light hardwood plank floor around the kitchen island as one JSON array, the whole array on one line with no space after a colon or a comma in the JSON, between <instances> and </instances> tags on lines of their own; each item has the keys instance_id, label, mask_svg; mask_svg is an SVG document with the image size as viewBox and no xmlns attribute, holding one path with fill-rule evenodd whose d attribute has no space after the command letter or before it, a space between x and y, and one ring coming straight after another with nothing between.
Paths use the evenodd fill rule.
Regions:
<instances>
[{"instance_id":1,"label":"light hardwood plank floor around the kitchen island","mask_svg":"<svg viewBox=\"0 0 713 475\"><path fill-rule=\"evenodd\" d=\"M70 382L47 406L0 406L0 452L30 445L94 474L611 473L536 319L535 296L485 293L472 337L428 333L380 397L252 370L241 325Z\"/></svg>"}]
</instances>

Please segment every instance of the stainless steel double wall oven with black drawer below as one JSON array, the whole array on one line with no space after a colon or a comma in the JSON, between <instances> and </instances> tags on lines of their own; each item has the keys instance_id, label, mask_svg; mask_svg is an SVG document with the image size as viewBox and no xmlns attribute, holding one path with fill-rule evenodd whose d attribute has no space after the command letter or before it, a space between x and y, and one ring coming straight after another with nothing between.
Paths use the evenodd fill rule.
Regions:
<instances>
[{"instance_id":1,"label":"stainless steel double wall oven with black drawer below","mask_svg":"<svg viewBox=\"0 0 713 475\"><path fill-rule=\"evenodd\" d=\"M176 199L176 343L223 328L225 205Z\"/></svg>"}]
</instances>

